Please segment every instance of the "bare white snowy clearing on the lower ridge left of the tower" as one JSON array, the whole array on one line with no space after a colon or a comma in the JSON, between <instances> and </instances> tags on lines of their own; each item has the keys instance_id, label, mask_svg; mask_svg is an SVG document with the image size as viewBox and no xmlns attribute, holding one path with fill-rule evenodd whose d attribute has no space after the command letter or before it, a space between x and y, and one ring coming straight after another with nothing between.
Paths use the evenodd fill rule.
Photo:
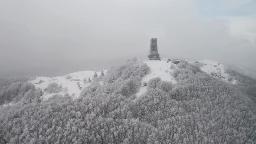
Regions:
<instances>
[{"instance_id":1,"label":"bare white snowy clearing on the lower ridge left of the tower","mask_svg":"<svg viewBox=\"0 0 256 144\"><path fill-rule=\"evenodd\" d=\"M104 70L104 73L107 72L106 70ZM101 72L97 72L97 75L99 76L101 74ZM93 75L94 75L94 71L82 71L82 72L74 72L74 73L70 73L70 76L72 76L71 79L66 79L67 75L63 75L63 76L58 76L58 77L54 77L54 78L50 78L50 77L36 77L36 79L30 81L31 83L33 83L35 85L36 88L41 88L43 91L44 89L52 82L56 82L59 85L62 85L62 91L59 93L52 93L52 94L48 94L46 92L44 92L43 94L43 99L48 99L49 97L56 95L56 94L61 94L61 95L65 95L66 93L68 93L70 96L74 97L74 98L78 98L79 94L81 92L81 90L79 89L79 85L78 82L80 84L80 87L84 88L86 86L89 85L89 83L84 84L83 83L83 79L84 78L89 78L92 79ZM43 80L44 82L41 84L38 84L38 82L40 80ZM79 81L72 81L72 80L79 80Z\"/></svg>"}]
</instances>

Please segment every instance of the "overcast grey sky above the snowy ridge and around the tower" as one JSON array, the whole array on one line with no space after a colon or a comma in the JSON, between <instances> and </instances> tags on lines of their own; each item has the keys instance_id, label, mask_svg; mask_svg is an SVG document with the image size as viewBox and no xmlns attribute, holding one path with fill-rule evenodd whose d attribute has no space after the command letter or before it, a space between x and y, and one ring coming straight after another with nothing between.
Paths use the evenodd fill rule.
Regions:
<instances>
[{"instance_id":1,"label":"overcast grey sky above the snowy ridge and around the tower","mask_svg":"<svg viewBox=\"0 0 256 144\"><path fill-rule=\"evenodd\" d=\"M256 0L0 0L0 76L64 75L161 57L256 69Z\"/></svg>"}]
</instances>

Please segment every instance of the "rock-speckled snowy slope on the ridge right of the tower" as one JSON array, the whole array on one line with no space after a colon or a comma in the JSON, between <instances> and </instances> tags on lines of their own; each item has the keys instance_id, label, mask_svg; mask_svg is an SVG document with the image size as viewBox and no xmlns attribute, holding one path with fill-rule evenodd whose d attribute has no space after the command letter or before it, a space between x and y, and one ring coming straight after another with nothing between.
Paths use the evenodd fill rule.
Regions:
<instances>
[{"instance_id":1,"label":"rock-speckled snowy slope on the ridge right of the tower","mask_svg":"<svg viewBox=\"0 0 256 144\"><path fill-rule=\"evenodd\" d=\"M192 64L199 64L200 69L203 72L206 72L210 75L213 75L216 78L222 79L225 82L229 82L232 84L236 84L236 80L233 79L230 75L225 72L226 66L221 64L220 62L216 62L213 60L205 59L205 60L187 60L187 62Z\"/></svg>"}]
</instances>

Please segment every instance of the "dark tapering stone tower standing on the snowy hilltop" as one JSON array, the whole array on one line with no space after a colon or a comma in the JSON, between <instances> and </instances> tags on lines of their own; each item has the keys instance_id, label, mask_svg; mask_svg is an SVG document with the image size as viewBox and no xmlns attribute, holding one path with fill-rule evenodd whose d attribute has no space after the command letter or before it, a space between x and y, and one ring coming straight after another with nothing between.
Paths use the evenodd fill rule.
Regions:
<instances>
[{"instance_id":1,"label":"dark tapering stone tower standing on the snowy hilltop","mask_svg":"<svg viewBox=\"0 0 256 144\"><path fill-rule=\"evenodd\" d=\"M160 56L158 54L158 44L157 44L156 38L152 38L150 41L150 49L149 49L149 54L148 54L148 59L149 60L161 60Z\"/></svg>"}]
</instances>

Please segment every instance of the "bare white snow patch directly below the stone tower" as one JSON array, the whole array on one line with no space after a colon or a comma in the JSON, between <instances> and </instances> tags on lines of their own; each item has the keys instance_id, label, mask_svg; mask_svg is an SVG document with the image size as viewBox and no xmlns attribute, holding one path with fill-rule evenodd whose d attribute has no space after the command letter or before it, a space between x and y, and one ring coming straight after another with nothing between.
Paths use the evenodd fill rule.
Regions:
<instances>
[{"instance_id":1,"label":"bare white snow patch directly below the stone tower","mask_svg":"<svg viewBox=\"0 0 256 144\"><path fill-rule=\"evenodd\" d=\"M173 71L173 69L170 69L171 62L167 62L167 59L161 59L161 61L147 59L147 60L144 60L143 62L150 67L150 72L142 78L141 88L135 94L137 98L143 95L148 90L148 86L143 86L143 83L148 82L152 78L160 77L164 81L169 81L169 82L172 82L173 84L177 83L174 77L171 76L171 72Z\"/></svg>"}]
</instances>

